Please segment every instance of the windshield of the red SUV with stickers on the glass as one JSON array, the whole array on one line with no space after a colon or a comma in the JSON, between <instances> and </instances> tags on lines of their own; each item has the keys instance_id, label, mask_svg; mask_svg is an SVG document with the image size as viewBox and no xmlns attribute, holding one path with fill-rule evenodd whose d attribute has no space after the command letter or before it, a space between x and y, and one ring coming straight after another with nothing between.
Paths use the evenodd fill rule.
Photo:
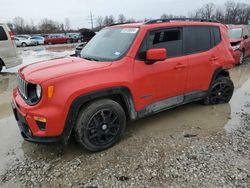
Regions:
<instances>
[{"instance_id":1,"label":"windshield of the red SUV with stickers on the glass","mask_svg":"<svg viewBox=\"0 0 250 188\"><path fill-rule=\"evenodd\" d=\"M131 46L139 28L106 28L83 48L81 57L95 61L113 61Z\"/></svg>"}]
</instances>

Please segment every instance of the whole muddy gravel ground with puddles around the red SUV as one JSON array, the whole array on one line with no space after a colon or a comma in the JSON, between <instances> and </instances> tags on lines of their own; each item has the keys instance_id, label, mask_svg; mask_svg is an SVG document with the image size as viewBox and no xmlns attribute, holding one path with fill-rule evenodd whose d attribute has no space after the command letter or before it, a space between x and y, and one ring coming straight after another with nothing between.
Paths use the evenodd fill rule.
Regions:
<instances>
[{"instance_id":1,"label":"whole muddy gravel ground with puddles around the red SUV","mask_svg":"<svg viewBox=\"0 0 250 188\"><path fill-rule=\"evenodd\" d=\"M47 52L22 53L28 63ZM23 141L10 108L16 76L3 73L0 187L249 187L250 59L230 72L230 104L192 103L138 120L99 153L73 140L67 147Z\"/></svg>"}]
</instances>

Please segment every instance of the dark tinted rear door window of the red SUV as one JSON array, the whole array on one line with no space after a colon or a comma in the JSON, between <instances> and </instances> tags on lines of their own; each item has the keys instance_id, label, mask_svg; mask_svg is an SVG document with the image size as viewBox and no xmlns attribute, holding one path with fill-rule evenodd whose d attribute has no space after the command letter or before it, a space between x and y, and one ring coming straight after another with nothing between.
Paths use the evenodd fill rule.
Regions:
<instances>
[{"instance_id":1,"label":"dark tinted rear door window of the red SUV","mask_svg":"<svg viewBox=\"0 0 250 188\"><path fill-rule=\"evenodd\" d=\"M185 54L203 52L211 48L210 27L188 26L185 27Z\"/></svg>"}]
</instances>

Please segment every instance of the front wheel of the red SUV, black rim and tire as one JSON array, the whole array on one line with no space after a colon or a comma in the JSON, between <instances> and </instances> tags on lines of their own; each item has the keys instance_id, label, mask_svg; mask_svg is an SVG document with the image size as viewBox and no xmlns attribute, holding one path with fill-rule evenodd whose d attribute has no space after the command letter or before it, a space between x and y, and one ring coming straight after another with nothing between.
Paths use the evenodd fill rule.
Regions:
<instances>
[{"instance_id":1,"label":"front wheel of the red SUV, black rim and tire","mask_svg":"<svg viewBox=\"0 0 250 188\"><path fill-rule=\"evenodd\" d=\"M98 152L115 145L126 127L120 104L101 99L82 108L75 126L75 139L85 149Z\"/></svg>"}]
</instances>

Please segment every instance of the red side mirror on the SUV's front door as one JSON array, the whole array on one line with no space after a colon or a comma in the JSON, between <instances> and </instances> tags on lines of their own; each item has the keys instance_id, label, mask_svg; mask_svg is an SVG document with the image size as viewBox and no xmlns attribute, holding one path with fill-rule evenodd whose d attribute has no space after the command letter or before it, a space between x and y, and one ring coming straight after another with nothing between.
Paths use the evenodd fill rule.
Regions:
<instances>
[{"instance_id":1,"label":"red side mirror on the SUV's front door","mask_svg":"<svg viewBox=\"0 0 250 188\"><path fill-rule=\"evenodd\" d=\"M167 59L167 50L165 48L149 49L146 57L147 64L152 64L155 61L164 61Z\"/></svg>"}]
</instances>

